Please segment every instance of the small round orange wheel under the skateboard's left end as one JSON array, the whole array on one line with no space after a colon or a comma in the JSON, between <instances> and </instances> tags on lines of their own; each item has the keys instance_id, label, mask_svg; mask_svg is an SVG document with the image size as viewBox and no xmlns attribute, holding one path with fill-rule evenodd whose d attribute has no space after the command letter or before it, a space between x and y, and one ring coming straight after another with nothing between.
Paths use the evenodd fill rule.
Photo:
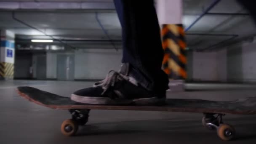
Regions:
<instances>
[{"instance_id":1,"label":"small round orange wheel under the skateboard's left end","mask_svg":"<svg viewBox=\"0 0 256 144\"><path fill-rule=\"evenodd\" d=\"M65 136L74 136L77 130L78 130L78 125L72 119L65 120L61 124L61 133L64 134Z\"/></svg>"}]
</instances>

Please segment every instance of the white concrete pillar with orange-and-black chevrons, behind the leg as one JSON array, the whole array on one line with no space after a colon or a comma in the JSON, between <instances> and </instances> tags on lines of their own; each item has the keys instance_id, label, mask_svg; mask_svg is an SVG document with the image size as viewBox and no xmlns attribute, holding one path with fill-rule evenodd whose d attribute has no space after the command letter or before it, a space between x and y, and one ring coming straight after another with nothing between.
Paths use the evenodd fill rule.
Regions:
<instances>
[{"instance_id":1,"label":"white concrete pillar with orange-and-black chevrons, behind the leg","mask_svg":"<svg viewBox=\"0 0 256 144\"><path fill-rule=\"evenodd\" d=\"M161 25L163 69L170 79L172 91L183 91L187 78L185 33L182 26L182 0L157 0L157 15Z\"/></svg>"}]
</instances>

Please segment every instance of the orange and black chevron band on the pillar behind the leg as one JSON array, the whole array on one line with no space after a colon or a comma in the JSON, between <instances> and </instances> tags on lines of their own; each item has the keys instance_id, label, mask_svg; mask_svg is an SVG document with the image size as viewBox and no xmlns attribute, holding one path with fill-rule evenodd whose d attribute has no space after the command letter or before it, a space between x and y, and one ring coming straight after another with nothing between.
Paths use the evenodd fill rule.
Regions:
<instances>
[{"instance_id":1,"label":"orange and black chevron band on the pillar behind the leg","mask_svg":"<svg viewBox=\"0 0 256 144\"><path fill-rule=\"evenodd\" d=\"M161 30L164 49L163 69L170 79L184 80L186 72L186 43L182 24L163 24Z\"/></svg>"}]
</instances>

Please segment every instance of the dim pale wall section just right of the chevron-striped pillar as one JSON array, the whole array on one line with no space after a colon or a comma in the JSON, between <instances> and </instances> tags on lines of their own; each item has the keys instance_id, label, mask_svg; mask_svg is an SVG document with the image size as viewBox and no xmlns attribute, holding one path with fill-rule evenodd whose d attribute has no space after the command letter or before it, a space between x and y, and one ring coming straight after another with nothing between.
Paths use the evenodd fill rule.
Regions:
<instances>
[{"instance_id":1,"label":"dim pale wall section just right of the chevron-striped pillar","mask_svg":"<svg viewBox=\"0 0 256 144\"><path fill-rule=\"evenodd\" d=\"M187 52L188 81L227 81L227 51Z\"/></svg>"}]
</instances>

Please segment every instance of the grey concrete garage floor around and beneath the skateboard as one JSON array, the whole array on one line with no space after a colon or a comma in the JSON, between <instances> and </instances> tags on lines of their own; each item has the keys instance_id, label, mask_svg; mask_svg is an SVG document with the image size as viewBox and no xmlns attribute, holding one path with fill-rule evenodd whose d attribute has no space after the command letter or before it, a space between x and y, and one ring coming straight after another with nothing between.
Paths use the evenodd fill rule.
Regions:
<instances>
[{"instance_id":1,"label":"grey concrete garage floor around and beneath the skateboard","mask_svg":"<svg viewBox=\"0 0 256 144\"><path fill-rule=\"evenodd\" d=\"M15 91L29 85L62 96L92 85L92 82L0 81L0 144L222 144L215 131L201 124L202 114L181 112L140 112L92 110L87 125L77 136L60 132L65 110L53 110L29 102ZM254 96L256 85L187 84L186 92L168 91L169 98L229 101ZM226 123L235 126L237 139L232 144L256 143L256 116L227 115Z\"/></svg>"}]
</instances>

